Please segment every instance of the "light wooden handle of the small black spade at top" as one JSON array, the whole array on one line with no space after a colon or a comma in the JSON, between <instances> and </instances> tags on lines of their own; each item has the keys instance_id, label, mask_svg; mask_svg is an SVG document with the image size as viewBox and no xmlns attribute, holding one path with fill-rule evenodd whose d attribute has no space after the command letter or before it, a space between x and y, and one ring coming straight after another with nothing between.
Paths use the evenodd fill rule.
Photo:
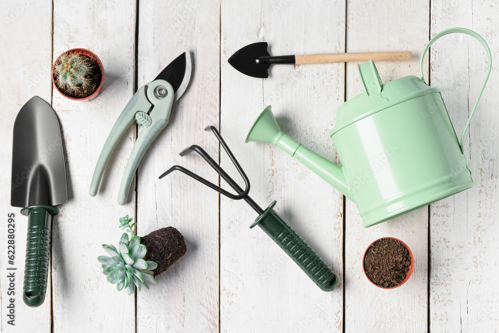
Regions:
<instances>
[{"instance_id":1,"label":"light wooden handle of the small black spade at top","mask_svg":"<svg viewBox=\"0 0 499 333\"><path fill-rule=\"evenodd\" d=\"M329 53L329 54L307 54L296 55L296 64L324 64L330 62L348 61L386 61L386 60L411 60L411 51L392 52L361 52L361 53Z\"/></svg>"}]
</instances>

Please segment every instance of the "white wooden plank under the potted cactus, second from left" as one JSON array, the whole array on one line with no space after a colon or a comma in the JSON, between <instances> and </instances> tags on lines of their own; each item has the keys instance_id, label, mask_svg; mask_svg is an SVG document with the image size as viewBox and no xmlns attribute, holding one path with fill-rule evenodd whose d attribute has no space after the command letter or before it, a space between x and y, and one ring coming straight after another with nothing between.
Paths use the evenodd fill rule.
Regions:
<instances>
[{"instance_id":1,"label":"white wooden plank under the potted cactus, second from left","mask_svg":"<svg viewBox=\"0 0 499 333\"><path fill-rule=\"evenodd\" d=\"M133 129L111 158L98 195L88 194L107 135L133 94L135 10L135 1L54 1L53 59L83 47L99 56L105 70L104 86L93 101L70 101L55 91L53 95L69 166L69 201L52 231L54 332L135 331L134 297L117 292L97 261L105 254L101 244L119 241L123 231L118 219L135 215L134 195L127 205L117 204Z\"/></svg>"}]
</instances>

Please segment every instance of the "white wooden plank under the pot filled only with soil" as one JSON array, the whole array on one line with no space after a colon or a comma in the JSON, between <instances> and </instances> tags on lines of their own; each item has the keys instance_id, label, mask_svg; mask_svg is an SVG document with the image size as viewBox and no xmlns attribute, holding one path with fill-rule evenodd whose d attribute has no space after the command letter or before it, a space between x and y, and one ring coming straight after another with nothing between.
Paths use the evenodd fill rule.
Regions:
<instances>
[{"instance_id":1,"label":"white wooden plank under the pot filled only with soil","mask_svg":"<svg viewBox=\"0 0 499 333\"><path fill-rule=\"evenodd\" d=\"M419 75L419 57L428 41L428 1L348 1L347 51L413 51L410 61L378 62L381 80ZM357 64L346 68L346 95L362 93ZM345 327L346 332L426 332L428 207L391 221L362 227L358 208L346 200ZM392 236L404 241L414 254L409 281L393 290L372 285L362 271L362 255L371 242Z\"/></svg>"}]
</instances>

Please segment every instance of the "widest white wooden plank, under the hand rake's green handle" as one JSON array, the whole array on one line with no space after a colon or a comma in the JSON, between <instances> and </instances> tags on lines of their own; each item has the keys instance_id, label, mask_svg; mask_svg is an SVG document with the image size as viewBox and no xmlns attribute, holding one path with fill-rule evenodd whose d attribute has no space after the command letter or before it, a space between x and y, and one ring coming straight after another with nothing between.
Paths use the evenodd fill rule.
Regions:
<instances>
[{"instance_id":1,"label":"widest white wooden plank, under the hand rake's green handle","mask_svg":"<svg viewBox=\"0 0 499 333\"><path fill-rule=\"evenodd\" d=\"M327 136L344 97L344 65L273 66L266 80L227 63L239 48L267 41L274 55L343 52L344 1L222 2L222 134L251 181L250 196L277 211L342 279L343 197L279 148L244 144L271 104L282 130L334 160ZM221 153L222 166L237 171ZM238 177L239 179L239 177ZM222 181L223 182L223 181ZM224 184L225 188L228 188ZM221 331L341 332L343 286L321 291L258 228L244 202L221 198Z\"/></svg>"}]
</instances>

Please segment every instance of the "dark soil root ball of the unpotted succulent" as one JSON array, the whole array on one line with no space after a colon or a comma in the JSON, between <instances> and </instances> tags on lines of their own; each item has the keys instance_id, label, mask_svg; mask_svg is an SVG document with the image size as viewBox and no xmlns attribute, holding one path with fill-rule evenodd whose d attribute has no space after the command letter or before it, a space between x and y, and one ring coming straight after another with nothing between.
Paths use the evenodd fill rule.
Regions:
<instances>
[{"instance_id":1,"label":"dark soil root ball of the unpotted succulent","mask_svg":"<svg viewBox=\"0 0 499 333\"><path fill-rule=\"evenodd\" d=\"M147 236L140 237L141 244L147 248L144 260L152 260L158 264L154 277L160 275L187 251L184 236L174 227L161 228Z\"/></svg>"}]
</instances>

